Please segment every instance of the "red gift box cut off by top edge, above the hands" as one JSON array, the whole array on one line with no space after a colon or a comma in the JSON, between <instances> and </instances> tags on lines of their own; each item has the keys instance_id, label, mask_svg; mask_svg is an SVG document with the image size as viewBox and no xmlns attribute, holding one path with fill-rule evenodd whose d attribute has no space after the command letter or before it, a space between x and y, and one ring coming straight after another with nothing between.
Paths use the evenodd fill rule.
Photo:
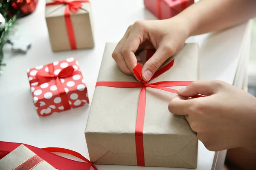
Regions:
<instances>
[{"instance_id":1,"label":"red gift box cut off by top edge, above the hands","mask_svg":"<svg viewBox=\"0 0 256 170\"><path fill-rule=\"evenodd\" d=\"M158 19L168 19L191 6L194 0L144 0L145 7Z\"/></svg>"}]
</instances>

